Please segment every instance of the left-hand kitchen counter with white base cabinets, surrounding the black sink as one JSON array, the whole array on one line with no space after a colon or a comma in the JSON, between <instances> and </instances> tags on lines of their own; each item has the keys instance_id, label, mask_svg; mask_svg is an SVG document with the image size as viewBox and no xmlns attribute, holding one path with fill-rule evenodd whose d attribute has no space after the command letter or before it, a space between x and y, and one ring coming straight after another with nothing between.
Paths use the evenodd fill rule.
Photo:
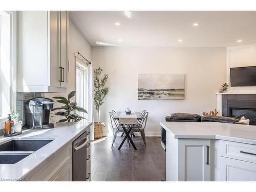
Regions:
<instances>
[{"instance_id":1,"label":"left-hand kitchen counter with white base cabinets, surrounding the black sink","mask_svg":"<svg viewBox=\"0 0 256 192\"><path fill-rule=\"evenodd\" d=\"M51 142L17 163L0 164L0 181L71 181L72 142L86 130L90 139L91 125L92 122L58 122L53 129L26 130L14 137L1 136L0 145L11 140Z\"/></svg>"}]
</instances>

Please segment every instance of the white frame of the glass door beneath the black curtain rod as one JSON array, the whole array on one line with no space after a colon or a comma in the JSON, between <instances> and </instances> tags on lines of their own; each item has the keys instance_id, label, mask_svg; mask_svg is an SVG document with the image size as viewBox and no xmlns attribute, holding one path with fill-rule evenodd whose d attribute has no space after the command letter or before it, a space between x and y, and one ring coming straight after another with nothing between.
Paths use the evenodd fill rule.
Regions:
<instances>
[{"instance_id":1,"label":"white frame of the glass door beneath the black curtain rod","mask_svg":"<svg viewBox=\"0 0 256 192\"><path fill-rule=\"evenodd\" d=\"M82 62L79 62L76 60L76 70L78 68L79 70L82 70L84 72L84 74L83 74L83 86L84 86L83 106L81 106L81 107L88 111L88 108L89 108L89 69L88 69L88 66L82 65L81 63ZM75 75L77 75L77 74L75 73ZM76 87L77 87L77 82L76 82ZM88 118L88 114L81 113L80 115L85 118Z\"/></svg>"}]
</instances>

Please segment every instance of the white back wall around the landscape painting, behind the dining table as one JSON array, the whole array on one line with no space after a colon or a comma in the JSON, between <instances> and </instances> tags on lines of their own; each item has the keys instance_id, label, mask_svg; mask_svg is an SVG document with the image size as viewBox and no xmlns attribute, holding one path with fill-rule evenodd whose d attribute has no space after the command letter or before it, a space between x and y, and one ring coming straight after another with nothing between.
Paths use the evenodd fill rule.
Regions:
<instances>
[{"instance_id":1,"label":"white back wall around the landscape painting, behind the dining table","mask_svg":"<svg viewBox=\"0 0 256 192\"><path fill-rule=\"evenodd\" d=\"M94 68L109 74L110 88L101 121L111 130L109 112L147 110L146 135L160 135L159 121L168 113L202 115L217 108L215 93L226 81L226 48L93 47ZM185 100L138 100L138 74L185 74ZM96 118L96 113L94 113ZM109 126L109 127L108 127Z\"/></svg>"}]
</instances>

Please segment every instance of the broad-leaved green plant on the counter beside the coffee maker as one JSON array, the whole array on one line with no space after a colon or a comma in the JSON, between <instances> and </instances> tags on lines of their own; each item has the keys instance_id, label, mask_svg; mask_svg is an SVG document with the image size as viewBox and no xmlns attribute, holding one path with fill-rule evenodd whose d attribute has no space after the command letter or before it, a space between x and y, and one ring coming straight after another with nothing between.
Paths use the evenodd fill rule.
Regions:
<instances>
[{"instance_id":1,"label":"broad-leaved green plant on the counter beside the coffee maker","mask_svg":"<svg viewBox=\"0 0 256 192\"><path fill-rule=\"evenodd\" d=\"M52 109L52 111L65 110L65 111L59 111L55 113L55 115L57 116L63 116L66 118L66 119L60 119L59 122L65 122L65 121L77 122L82 119L86 119L83 116L80 116L78 113L76 113L76 112L82 112L82 113L88 113L88 112L85 109L81 108L80 106L77 106L76 101L71 101L71 99L75 96L75 94L76 94L76 91L72 91L68 95L68 99L66 97L59 97L59 96L53 97L54 99L57 99L56 101L58 103L65 104L58 108Z\"/></svg>"}]
</instances>

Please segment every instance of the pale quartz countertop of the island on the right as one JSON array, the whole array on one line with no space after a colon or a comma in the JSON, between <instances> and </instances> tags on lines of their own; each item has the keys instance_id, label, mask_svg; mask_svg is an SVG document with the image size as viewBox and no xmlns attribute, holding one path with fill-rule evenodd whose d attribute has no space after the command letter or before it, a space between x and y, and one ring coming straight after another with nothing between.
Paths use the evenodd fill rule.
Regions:
<instances>
[{"instance_id":1,"label":"pale quartz countertop of the island on the right","mask_svg":"<svg viewBox=\"0 0 256 192\"><path fill-rule=\"evenodd\" d=\"M256 144L256 126L219 122L160 122L177 139L220 139Z\"/></svg>"}]
</instances>

